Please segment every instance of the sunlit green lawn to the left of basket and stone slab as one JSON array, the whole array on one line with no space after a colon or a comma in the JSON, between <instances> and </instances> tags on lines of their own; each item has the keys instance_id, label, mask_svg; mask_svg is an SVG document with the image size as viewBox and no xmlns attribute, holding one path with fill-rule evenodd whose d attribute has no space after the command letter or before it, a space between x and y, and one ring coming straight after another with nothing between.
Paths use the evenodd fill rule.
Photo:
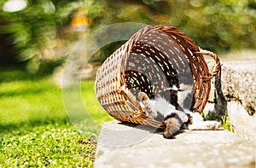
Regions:
<instances>
[{"instance_id":1,"label":"sunlit green lawn to the left of basket and stone slab","mask_svg":"<svg viewBox=\"0 0 256 168\"><path fill-rule=\"evenodd\" d=\"M82 82L81 95L89 122L111 119L96 101L93 80ZM49 77L0 72L0 167L91 167L98 125L81 133Z\"/></svg>"}]
</instances>

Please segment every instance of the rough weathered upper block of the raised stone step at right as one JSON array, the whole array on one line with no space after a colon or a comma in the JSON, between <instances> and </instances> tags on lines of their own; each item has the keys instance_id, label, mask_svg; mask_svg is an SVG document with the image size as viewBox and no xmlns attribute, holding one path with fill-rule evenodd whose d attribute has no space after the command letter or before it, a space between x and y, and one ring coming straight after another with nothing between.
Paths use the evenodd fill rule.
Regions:
<instances>
[{"instance_id":1,"label":"rough weathered upper block of the raised stone step at right","mask_svg":"<svg viewBox=\"0 0 256 168\"><path fill-rule=\"evenodd\" d=\"M247 113L256 107L256 61L224 62L221 70L223 95L227 101L240 101Z\"/></svg>"}]
</instances>

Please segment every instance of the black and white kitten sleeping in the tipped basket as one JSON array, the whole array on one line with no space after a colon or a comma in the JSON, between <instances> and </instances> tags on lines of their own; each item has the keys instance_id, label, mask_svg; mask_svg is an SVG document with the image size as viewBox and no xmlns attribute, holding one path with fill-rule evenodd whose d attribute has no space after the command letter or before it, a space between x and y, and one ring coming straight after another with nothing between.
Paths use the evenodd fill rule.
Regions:
<instances>
[{"instance_id":1,"label":"black and white kitten sleeping in the tipped basket","mask_svg":"<svg viewBox=\"0 0 256 168\"><path fill-rule=\"evenodd\" d=\"M181 84L180 89L167 90L169 101L163 93L154 96L154 99L149 99L144 92L138 94L143 111L149 117L163 121L166 125L163 134L165 138L172 138L182 129L218 130L220 124L217 121L203 121L200 113L191 112L191 101L194 101L191 86Z\"/></svg>"}]
</instances>

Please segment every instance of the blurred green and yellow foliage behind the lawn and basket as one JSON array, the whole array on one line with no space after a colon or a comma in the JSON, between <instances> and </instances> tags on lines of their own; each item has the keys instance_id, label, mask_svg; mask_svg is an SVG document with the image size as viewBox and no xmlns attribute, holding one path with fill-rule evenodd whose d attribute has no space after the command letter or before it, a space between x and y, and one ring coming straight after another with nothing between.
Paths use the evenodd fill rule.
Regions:
<instances>
[{"instance_id":1,"label":"blurred green and yellow foliage behind the lawn and basket","mask_svg":"<svg viewBox=\"0 0 256 168\"><path fill-rule=\"evenodd\" d=\"M177 26L218 54L256 45L255 0L3 0L0 12L0 62L30 62L31 72L61 64L84 34L125 21Z\"/></svg>"}]
</instances>

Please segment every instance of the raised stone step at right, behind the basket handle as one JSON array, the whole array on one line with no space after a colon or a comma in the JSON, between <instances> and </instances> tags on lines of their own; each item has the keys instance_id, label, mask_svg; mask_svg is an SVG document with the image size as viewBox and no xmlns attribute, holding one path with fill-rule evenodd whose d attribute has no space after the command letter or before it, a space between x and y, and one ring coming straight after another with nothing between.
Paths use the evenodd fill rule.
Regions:
<instances>
[{"instance_id":1,"label":"raised stone step at right, behind the basket handle","mask_svg":"<svg viewBox=\"0 0 256 168\"><path fill-rule=\"evenodd\" d=\"M256 144L256 61L223 61L205 110L228 113L234 131Z\"/></svg>"}]
</instances>

